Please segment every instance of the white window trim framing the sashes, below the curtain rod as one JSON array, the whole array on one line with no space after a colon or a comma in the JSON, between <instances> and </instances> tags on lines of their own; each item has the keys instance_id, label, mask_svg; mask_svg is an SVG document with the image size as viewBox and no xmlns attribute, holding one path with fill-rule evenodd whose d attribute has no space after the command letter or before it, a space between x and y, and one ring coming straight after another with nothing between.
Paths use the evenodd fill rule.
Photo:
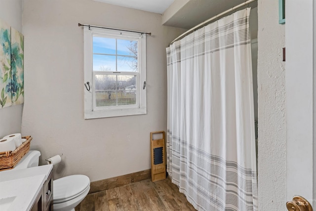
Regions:
<instances>
[{"instance_id":1,"label":"white window trim framing the sashes, below the curtain rod","mask_svg":"<svg viewBox=\"0 0 316 211\"><path fill-rule=\"evenodd\" d=\"M105 110L93 110L93 92L94 92L94 82L93 82L93 71L92 71L92 36L93 34L103 34L103 35L114 35L121 36L122 38L137 38L139 40L139 75L137 79L139 90L140 104L139 107L133 108L133 106L118 106L116 109L114 107L106 108ZM102 72L102 71L101 71ZM100 72L100 73L101 73ZM130 72L131 74L133 72ZM147 99L146 99L146 89L143 89L143 84L146 82L146 34L123 32L117 30L109 29L94 29L84 27L84 84L89 82L90 90L88 91L84 87L84 119L96 119L96 118L106 118L106 117L120 117L120 116L130 116L130 115L141 115L147 114ZM134 106L135 107L135 106Z\"/></svg>"}]
</instances>

